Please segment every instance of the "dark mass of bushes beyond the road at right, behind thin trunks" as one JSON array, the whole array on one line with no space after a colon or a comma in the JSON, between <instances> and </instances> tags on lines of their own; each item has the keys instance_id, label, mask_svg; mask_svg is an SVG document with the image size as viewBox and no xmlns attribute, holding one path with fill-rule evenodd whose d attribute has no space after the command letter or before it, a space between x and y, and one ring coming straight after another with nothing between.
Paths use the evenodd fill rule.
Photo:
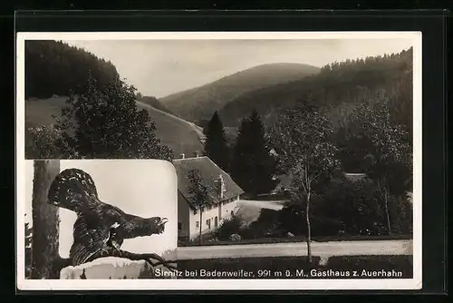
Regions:
<instances>
[{"instance_id":1,"label":"dark mass of bushes beyond the road at right, behind thin trunks","mask_svg":"<svg viewBox=\"0 0 453 303\"><path fill-rule=\"evenodd\" d=\"M392 233L410 234L412 205L405 198L390 196ZM312 236L381 236L388 234L381 194L372 181L332 181L311 203ZM279 210L279 226L294 235L306 233L304 202L294 200Z\"/></svg>"}]
</instances>

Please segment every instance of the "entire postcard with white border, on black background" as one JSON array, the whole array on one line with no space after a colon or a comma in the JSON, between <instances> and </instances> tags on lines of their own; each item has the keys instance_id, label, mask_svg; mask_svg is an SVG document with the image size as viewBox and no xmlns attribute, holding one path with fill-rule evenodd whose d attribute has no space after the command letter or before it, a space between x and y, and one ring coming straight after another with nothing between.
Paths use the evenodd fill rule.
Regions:
<instances>
[{"instance_id":1,"label":"entire postcard with white border, on black background","mask_svg":"<svg viewBox=\"0 0 453 303\"><path fill-rule=\"evenodd\" d=\"M17 46L24 288L421 288L420 33Z\"/></svg>"}]
</instances>

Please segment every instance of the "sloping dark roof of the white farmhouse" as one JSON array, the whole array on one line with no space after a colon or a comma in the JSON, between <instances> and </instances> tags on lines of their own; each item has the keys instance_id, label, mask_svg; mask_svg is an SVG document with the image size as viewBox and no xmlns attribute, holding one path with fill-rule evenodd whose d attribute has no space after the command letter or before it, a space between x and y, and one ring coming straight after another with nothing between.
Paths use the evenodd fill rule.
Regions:
<instances>
[{"instance_id":1,"label":"sloping dark roof of the white farmhouse","mask_svg":"<svg viewBox=\"0 0 453 303\"><path fill-rule=\"evenodd\" d=\"M188 193L190 187L188 172L192 170L198 170L203 182L212 189L211 202L213 204L219 202L220 200L235 198L244 193L236 182L231 179L229 174L219 168L216 163L206 156L175 159L173 160L173 165L175 166L178 174L178 191L186 200L188 200L188 204L192 209L196 209L195 204L191 201L190 194ZM217 186L215 185L215 181L218 180L220 175L222 176L225 184L223 199L220 199L220 195L216 190Z\"/></svg>"}]
</instances>

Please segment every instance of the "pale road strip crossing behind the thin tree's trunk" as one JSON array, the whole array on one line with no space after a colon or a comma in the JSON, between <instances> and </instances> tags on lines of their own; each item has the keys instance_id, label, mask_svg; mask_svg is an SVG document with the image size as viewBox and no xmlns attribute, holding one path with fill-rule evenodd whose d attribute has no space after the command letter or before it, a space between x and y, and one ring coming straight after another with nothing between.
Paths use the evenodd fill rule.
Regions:
<instances>
[{"instance_id":1,"label":"pale road strip crossing behind the thin tree's trunk","mask_svg":"<svg viewBox=\"0 0 453 303\"><path fill-rule=\"evenodd\" d=\"M179 247L178 259L306 256L305 242ZM412 240L312 242L313 256L412 255Z\"/></svg>"}]
</instances>

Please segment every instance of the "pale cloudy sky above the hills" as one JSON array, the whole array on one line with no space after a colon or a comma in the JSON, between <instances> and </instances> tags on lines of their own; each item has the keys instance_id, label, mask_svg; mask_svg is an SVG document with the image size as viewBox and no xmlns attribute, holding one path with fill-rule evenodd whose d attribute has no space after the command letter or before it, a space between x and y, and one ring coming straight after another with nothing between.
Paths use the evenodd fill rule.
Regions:
<instances>
[{"instance_id":1,"label":"pale cloudy sky above the hills","mask_svg":"<svg viewBox=\"0 0 453 303\"><path fill-rule=\"evenodd\" d=\"M110 60L126 83L164 97L260 64L322 67L334 61L400 53L412 39L68 40Z\"/></svg>"}]
</instances>

